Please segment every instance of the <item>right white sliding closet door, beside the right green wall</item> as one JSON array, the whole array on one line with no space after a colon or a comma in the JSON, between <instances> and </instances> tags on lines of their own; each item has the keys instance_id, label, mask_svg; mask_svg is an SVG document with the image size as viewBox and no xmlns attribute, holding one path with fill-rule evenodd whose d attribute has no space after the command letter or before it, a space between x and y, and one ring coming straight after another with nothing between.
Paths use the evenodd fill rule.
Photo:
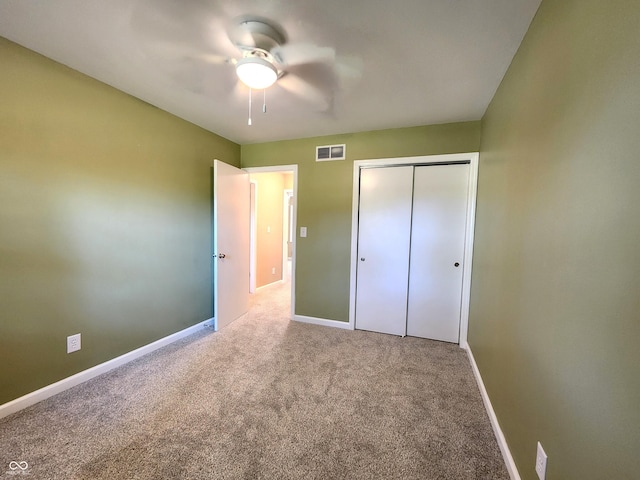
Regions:
<instances>
[{"instance_id":1,"label":"right white sliding closet door, beside the right green wall","mask_svg":"<svg viewBox=\"0 0 640 480\"><path fill-rule=\"evenodd\" d=\"M469 165L417 166L407 335L458 343Z\"/></svg>"}]
</instances>

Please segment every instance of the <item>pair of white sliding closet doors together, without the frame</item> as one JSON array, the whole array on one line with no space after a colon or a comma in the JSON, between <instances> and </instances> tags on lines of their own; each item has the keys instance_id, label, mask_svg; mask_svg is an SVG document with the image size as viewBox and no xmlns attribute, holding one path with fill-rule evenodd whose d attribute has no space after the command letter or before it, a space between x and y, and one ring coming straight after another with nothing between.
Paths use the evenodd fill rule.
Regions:
<instances>
[{"instance_id":1,"label":"pair of white sliding closet doors together, without the frame","mask_svg":"<svg viewBox=\"0 0 640 480\"><path fill-rule=\"evenodd\" d=\"M360 169L356 329L460 341L469 167Z\"/></svg>"}]
</instances>

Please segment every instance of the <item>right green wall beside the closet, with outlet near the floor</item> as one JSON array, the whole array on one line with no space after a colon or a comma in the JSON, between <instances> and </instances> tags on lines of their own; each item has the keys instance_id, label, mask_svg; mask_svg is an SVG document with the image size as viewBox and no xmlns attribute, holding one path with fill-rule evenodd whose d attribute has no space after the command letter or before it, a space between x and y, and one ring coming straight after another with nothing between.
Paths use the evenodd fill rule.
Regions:
<instances>
[{"instance_id":1,"label":"right green wall beside the closet, with outlet near the floor","mask_svg":"<svg viewBox=\"0 0 640 480\"><path fill-rule=\"evenodd\" d=\"M524 480L640 475L640 3L543 0L482 122L469 343Z\"/></svg>"}]
</instances>

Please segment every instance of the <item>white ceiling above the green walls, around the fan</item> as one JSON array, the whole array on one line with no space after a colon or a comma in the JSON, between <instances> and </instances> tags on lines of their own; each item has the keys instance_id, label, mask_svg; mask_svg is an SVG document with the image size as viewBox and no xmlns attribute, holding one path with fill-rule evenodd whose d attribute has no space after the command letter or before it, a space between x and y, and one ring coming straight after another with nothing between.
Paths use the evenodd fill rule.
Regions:
<instances>
[{"instance_id":1,"label":"white ceiling above the green walls, around the fan","mask_svg":"<svg viewBox=\"0 0 640 480\"><path fill-rule=\"evenodd\" d=\"M0 0L0 35L247 144L478 120L539 4ZM291 44L334 48L339 63L360 75L329 92L324 70L298 67L299 77L285 75L267 90L266 114L262 92L254 92L253 125L248 126L248 89L237 84L234 67L197 56L239 57L226 32L241 15L277 22ZM311 83L322 85L322 91Z\"/></svg>"}]
</instances>

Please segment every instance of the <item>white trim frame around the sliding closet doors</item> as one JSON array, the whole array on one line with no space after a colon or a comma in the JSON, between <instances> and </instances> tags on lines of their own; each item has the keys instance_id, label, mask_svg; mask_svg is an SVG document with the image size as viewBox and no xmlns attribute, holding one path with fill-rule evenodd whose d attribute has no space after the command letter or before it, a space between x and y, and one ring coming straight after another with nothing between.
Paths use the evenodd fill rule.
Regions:
<instances>
[{"instance_id":1,"label":"white trim frame around the sliding closet doors","mask_svg":"<svg viewBox=\"0 0 640 480\"><path fill-rule=\"evenodd\" d=\"M462 305L460 309L461 348L467 348L469 330L469 302L471 298L471 267L473 265L473 236L475 227L476 193L478 188L478 161L480 154L455 153L449 155L425 155L419 157L380 158L353 162L353 200L351 215L351 273L349 283L349 328L355 329L356 321L356 272L358 267L358 210L360 203L360 170L370 167L394 167L402 165L439 165L469 162L469 191L467 195L467 220L462 271Z\"/></svg>"}]
</instances>

